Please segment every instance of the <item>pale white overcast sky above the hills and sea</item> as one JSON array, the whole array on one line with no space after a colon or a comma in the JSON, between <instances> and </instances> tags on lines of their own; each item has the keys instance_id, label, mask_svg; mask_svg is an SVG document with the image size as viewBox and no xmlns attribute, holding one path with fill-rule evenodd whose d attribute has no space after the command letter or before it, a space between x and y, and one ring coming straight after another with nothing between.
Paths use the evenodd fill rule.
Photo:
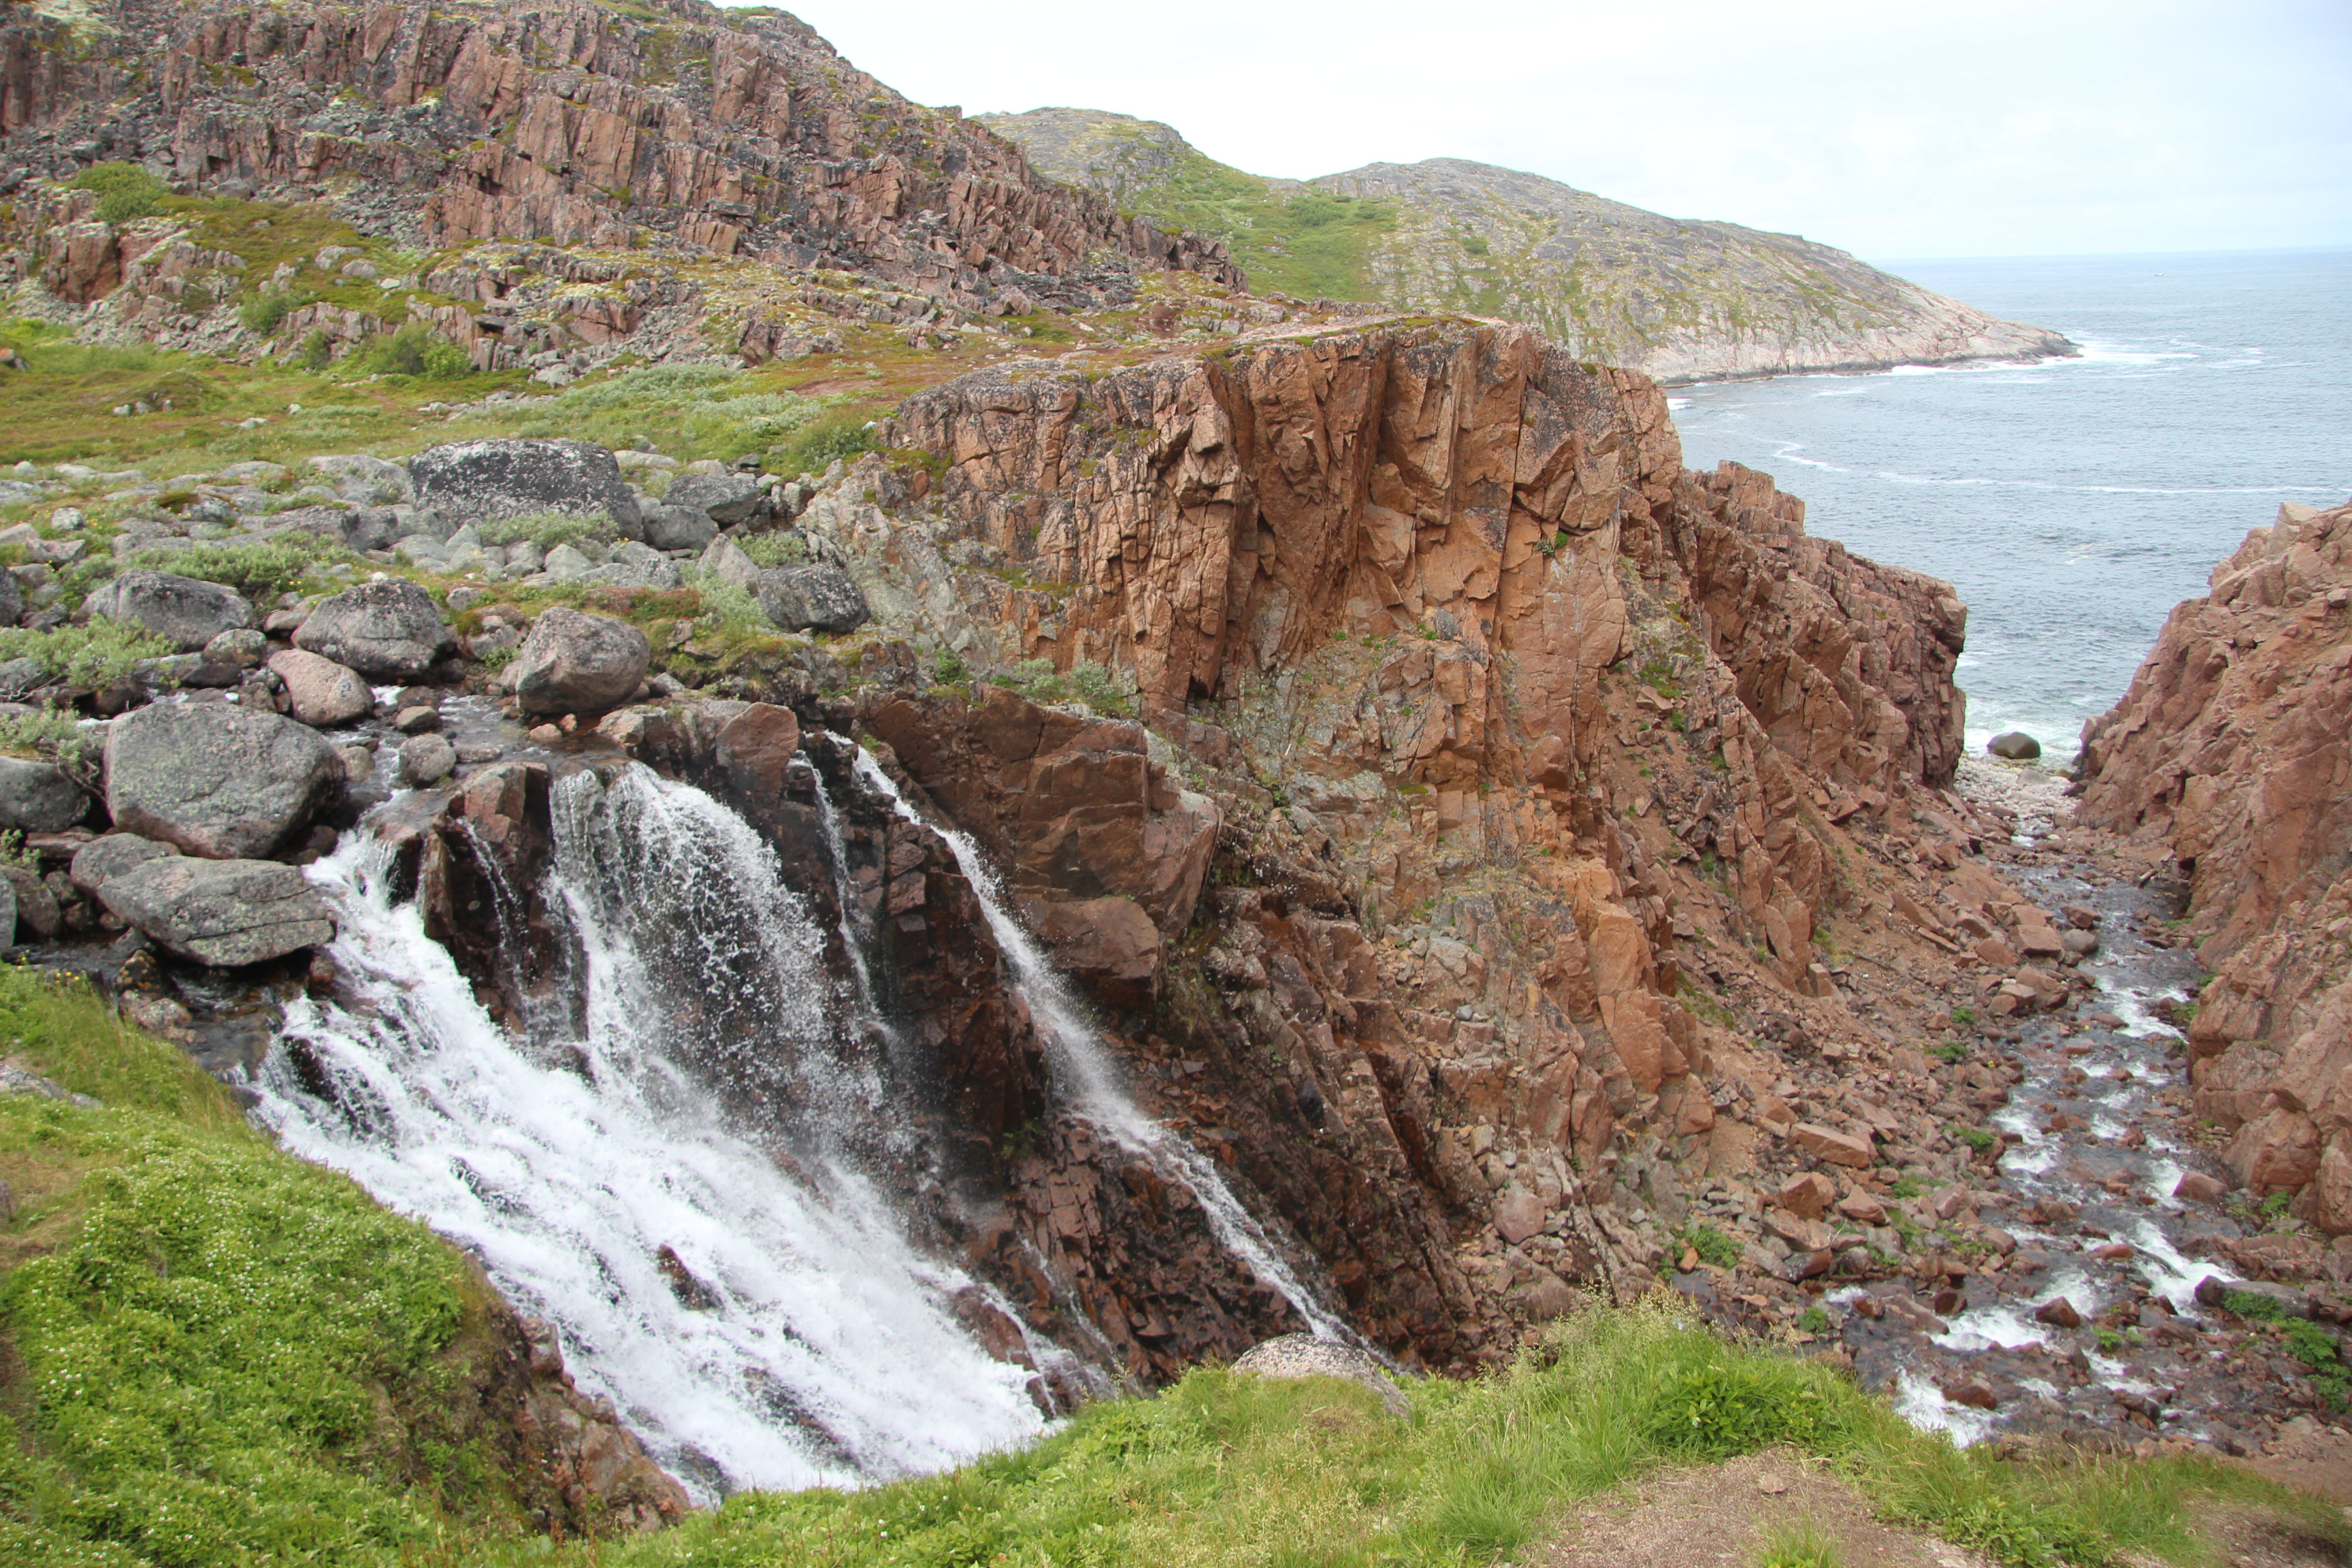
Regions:
<instances>
[{"instance_id":1,"label":"pale white overcast sky above the hills and sea","mask_svg":"<svg viewBox=\"0 0 2352 1568\"><path fill-rule=\"evenodd\" d=\"M967 113L1254 174L1475 158L1875 261L2352 244L2352 0L802 0Z\"/></svg>"}]
</instances>

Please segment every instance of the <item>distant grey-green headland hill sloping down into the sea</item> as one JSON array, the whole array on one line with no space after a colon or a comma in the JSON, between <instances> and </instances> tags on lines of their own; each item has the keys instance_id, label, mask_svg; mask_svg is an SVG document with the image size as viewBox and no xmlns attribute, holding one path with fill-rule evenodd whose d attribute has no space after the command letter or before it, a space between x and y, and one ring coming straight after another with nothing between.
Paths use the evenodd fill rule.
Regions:
<instances>
[{"instance_id":1,"label":"distant grey-green headland hill sloping down into the sea","mask_svg":"<svg viewBox=\"0 0 2352 1568\"><path fill-rule=\"evenodd\" d=\"M1828 244L1665 219L1461 158L1289 181L1221 165L1157 120L1096 108L978 120L1042 174L1157 228L1225 240L1251 287L1519 320L1661 381L2077 353Z\"/></svg>"}]
</instances>

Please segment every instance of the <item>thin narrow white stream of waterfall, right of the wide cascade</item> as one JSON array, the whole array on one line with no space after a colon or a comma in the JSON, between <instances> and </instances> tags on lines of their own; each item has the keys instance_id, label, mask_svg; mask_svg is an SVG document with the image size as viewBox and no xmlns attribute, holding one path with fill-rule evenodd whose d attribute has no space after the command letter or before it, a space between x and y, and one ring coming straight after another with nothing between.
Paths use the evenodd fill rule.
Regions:
<instances>
[{"instance_id":1,"label":"thin narrow white stream of waterfall, right of the wide cascade","mask_svg":"<svg viewBox=\"0 0 2352 1568\"><path fill-rule=\"evenodd\" d=\"M1134 1103L1120 1081L1117 1065L1103 1051L1101 1032L1087 1023L1087 1011L1070 994L1070 987L1061 983L1061 976L1054 973L1054 966L1037 950L1028 929L1004 907L1004 889L997 886L995 870L990 870L988 856L971 842L971 835L962 827L924 820L866 748L858 748L854 769L868 788L891 802L898 816L929 827L955 853L955 865L964 872L964 882L971 884L971 893L981 900L981 912L988 917L988 931L997 938L1004 957L1011 959L1014 983L1021 990L1021 999L1028 1001L1030 1018L1042 1025L1047 1060L1054 1067L1054 1086L1070 1107L1098 1126L1117 1147L1148 1159L1164 1180L1174 1180L1200 1199L1200 1208L1209 1218L1218 1244L1277 1291L1308 1321L1315 1338L1357 1345L1359 1338L1345 1319L1315 1300L1315 1293L1282 1260L1265 1227L1232 1197L1232 1187L1225 1185L1216 1164L1160 1126L1160 1121L1145 1117L1143 1107Z\"/></svg>"}]
</instances>

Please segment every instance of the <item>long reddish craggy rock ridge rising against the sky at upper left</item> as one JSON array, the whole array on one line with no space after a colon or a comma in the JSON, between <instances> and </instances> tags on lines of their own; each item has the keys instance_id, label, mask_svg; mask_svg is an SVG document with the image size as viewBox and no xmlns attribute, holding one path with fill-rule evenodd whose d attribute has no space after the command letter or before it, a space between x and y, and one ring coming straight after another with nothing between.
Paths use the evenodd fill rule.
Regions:
<instances>
[{"instance_id":1,"label":"long reddish craggy rock ridge rising against the sky at upper left","mask_svg":"<svg viewBox=\"0 0 2352 1568\"><path fill-rule=\"evenodd\" d=\"M419 247L652 240L962 308L1101 303L1134 268L1240 282L1216 247L1040 179L797 19L696 0L9 7L0 148L12 179L129 160L191 193L334 200Z\"/></svg>"}]
</instances>

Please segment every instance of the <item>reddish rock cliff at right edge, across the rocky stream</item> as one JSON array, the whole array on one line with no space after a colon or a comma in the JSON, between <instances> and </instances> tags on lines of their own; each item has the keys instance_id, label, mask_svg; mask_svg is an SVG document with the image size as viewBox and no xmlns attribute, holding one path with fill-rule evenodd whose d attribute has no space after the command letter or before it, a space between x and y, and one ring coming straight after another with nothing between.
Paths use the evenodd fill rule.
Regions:
<instances>
[{"instance_id":1,"label":"reddish rock cliff at right edge, across the rocky stream","mask_svg":"<svg viewBox=\"0 0 2352 1568\"><path fill-rule=\"evenodd\" d=\"M2079 813L2190 872L2197 1112L2251 1187L2347 1234L2352 508L2281 508L2211 581L2084 729Z\"/></svg>"}]
</instances>

